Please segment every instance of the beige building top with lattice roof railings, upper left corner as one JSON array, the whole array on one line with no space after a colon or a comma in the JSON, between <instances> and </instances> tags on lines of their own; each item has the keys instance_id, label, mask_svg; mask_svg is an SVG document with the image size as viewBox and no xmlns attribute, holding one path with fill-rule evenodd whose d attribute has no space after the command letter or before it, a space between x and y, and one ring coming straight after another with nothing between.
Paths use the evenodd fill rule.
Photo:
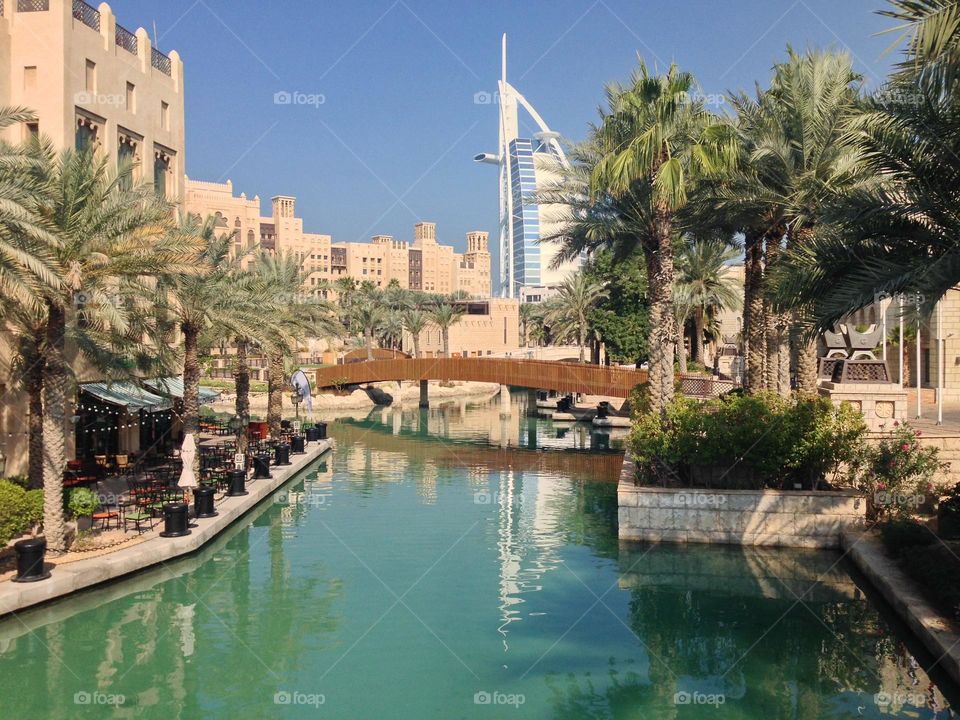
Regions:
<instances>
[{"instance_id":1,"label":"beige building top with lattice roof railings, upper left corner","mask_svg":"<svg viewBox=\"0 0 960 720\"><path fill-rule=\"evenodd\" d=\"M19 142L95 147L135 163L135 175L183 197L183 63L130 31L110 6L81 0L6 0L0 14L0 105L30 108L35 122L7 128Z\"/></svg>"}]
</instances>

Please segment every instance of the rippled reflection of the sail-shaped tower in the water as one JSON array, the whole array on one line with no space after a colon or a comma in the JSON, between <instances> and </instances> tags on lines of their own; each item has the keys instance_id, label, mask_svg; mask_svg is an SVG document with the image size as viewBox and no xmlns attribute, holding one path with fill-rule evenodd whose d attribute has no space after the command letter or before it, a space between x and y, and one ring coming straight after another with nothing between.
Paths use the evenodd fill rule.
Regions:
<instances>
[{"instance_id":1,"label":"rippled reflection of the sail-shaped tower in the water","mask_svg":"<svg viewBox=\"0 0 960 720\"><path fill-rule=\"evenodd\" d=\"M500 473L496 496L497 548L500 561L500 626L503 649L509 650L508 626L522 619L523 595L539 592L540 579L560 564L563 544L557 531L555 499L564 483L550 475ZM567 488L569 492L569 488Z\"/></svg>"}]
</instances>

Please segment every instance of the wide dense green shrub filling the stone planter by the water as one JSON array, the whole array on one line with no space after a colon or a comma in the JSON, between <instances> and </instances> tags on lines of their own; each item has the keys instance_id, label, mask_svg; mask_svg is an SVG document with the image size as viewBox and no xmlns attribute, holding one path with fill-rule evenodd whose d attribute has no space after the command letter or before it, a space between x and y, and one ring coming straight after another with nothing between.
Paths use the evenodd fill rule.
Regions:
<instances>
[{"instance_id":1,"label":"wide dense green shrub filling the stone planter by the water","mask_svg":"<svg viewBox=\"0 0 960 720\"><path fill-rule=\"evenodd\" d=\"M836 476L865 435L859 413L827 398L728 394L706 403L677 397L664 419L639 415L628 442L644 483L789 489Z\"/></svg>"}]
</instances>

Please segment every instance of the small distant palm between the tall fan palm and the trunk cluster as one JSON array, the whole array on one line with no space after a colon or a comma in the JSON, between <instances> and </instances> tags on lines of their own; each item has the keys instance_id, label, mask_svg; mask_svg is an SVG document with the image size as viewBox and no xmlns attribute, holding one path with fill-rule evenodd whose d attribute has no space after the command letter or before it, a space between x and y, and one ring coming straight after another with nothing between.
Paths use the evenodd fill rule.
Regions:
<instances>
[{"instance_id":1,"label":"small distant palm between the tall fan palm and the trunk cluster","mask_svg":"<svg viewBox=\"0 0 960 720\"><path fill-rule=\"evenodd\" d=\"M703 338L707 318L723 310L740 308L737 282L729 275L729 263L739 255L716 239L694 240L677 258L677 285L691 308L693 317L694 362L706 365Z\"/></svg>"}]
</instances>

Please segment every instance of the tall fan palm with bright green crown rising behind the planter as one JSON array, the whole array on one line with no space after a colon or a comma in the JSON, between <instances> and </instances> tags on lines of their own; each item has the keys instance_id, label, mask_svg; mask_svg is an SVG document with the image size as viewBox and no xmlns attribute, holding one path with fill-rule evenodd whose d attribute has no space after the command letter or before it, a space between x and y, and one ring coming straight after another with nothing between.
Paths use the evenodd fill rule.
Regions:
<instances>
[{"instance_id":1,"label":"tall fan palm with bright green crown rising behind the planter","mask_svg":"<svg viewBox=\"0 0 960 720\"><path fill-rule=\"evenodd\" d=\"M677 213L698 177L715 175L736 161L730 128L705 110L694 89L693 76L675 65L654 75L641 62L629 86L607 88L607 109L591 138L597 158L590 170L590 199L604 211L613 210L608 220L618 222L616 214L625 210L629 224L644 229L634 236L632 249L642 247L647 265L650 397L657 411L674 391L670 303Z\"/></svg>"}]
</instances>

